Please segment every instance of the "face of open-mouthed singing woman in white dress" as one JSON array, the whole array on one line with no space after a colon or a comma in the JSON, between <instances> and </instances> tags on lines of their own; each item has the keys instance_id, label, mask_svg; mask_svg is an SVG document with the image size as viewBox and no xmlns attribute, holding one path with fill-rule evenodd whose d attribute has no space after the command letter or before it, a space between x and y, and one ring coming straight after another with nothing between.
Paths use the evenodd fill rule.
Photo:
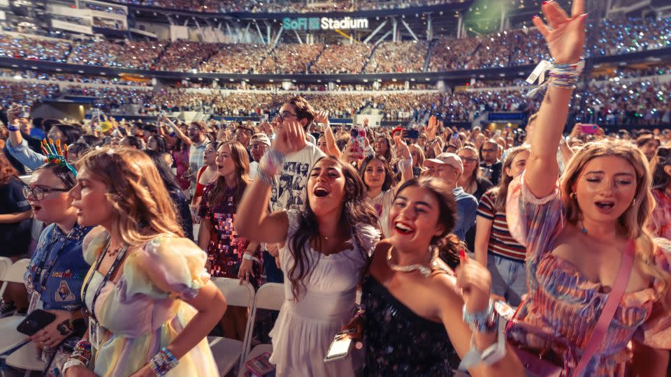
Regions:
<instances>
[{"instance_id":1,"label":"face of open-mouthed singing woman in white dress","mask_svg":"<svg viewBox=\"0 0 671 377\"><path fill-rule=\"evenodd\" d=\"M338 212L345 198L345 175L335 161L322 159L308 179L308 201L317 217Z\"/></svg>"}]
</instances>

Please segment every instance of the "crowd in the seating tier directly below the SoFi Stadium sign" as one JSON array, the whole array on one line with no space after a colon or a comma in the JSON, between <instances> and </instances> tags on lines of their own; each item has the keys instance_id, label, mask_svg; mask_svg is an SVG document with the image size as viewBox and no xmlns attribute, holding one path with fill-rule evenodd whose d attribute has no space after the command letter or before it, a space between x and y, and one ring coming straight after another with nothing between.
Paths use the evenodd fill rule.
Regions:
<instances>
[{"instance_id":1,"label":"crowd in the seating tier directly below the SoFi Stadium sign","mask_svg":"<svg viewBox=\"0 0 671 377\"><path fill-rule=\"evenodd\" d=\"M671 18L593 22L586 57L671 47ZM0 56L71 64L205 73L406 73L532 65L547 59L536 29L377 46L41 40L0 35ZM428 62L426 61L428 57Z\"/></svg>"}]
</instances>

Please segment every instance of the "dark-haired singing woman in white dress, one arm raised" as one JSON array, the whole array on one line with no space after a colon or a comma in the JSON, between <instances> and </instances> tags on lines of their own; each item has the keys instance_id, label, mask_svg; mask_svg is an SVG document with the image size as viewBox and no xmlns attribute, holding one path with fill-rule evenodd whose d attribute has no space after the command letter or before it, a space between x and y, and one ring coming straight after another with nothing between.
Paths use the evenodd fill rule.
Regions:
<instances>
[{"instance_id":1,"label":"dark-haired singing woman in white dress, one arm raised","mask_svg":"<svg viewBox=\"0 0 671 377\"><path fill-rule=\"evenodd\" d=\"M286 300L270 332L277 375L354 376L352 357L326 363L324 355L354 313L356 286L380 238L377 216L356 170L332 156L310 170L304 211L267 214L269 183L281 174L284 156L304 143L305 130L295 121L277 135L243 196L236 226L243 237L282 244Z\"/></svg>"}]
</instances>

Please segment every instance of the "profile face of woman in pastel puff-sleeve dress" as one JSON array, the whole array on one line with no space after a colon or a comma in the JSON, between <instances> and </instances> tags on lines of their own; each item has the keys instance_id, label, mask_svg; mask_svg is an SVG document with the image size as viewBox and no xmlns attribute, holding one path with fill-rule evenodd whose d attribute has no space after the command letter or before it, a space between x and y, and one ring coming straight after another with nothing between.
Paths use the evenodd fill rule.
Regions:
<instances>
[{"instance_id":1,"label":"profile face of woman in pastel puff-sleeve dress","mask_svg":"<svg viewBox=\"0 0 671 377\"><path fill-rule=\"evenodd\" d=\"M72 206L78 209L77 221L81 226L110 226L113 212L107 193L105 182L82 166L77 174L77 186L68 193L73 198Z\"/></svg>"}]
</instances>

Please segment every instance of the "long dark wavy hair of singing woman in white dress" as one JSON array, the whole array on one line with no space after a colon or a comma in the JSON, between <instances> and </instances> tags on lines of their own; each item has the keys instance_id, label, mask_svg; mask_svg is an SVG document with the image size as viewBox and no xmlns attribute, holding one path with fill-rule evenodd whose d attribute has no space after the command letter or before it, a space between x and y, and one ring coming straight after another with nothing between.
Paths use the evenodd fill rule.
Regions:
<instances>
[{"instance_id":1,"label":"long dark wavy hair of singing woman in white dress","mask_svg":"<svg viewBox=\"0 0 671 377\"><path fill-rule=\"evenodd\" d=\"M332 161L345 176L345 196L342 198L342 210L340 212L340 223L347 227L354 235L354 241L359 245L361 253L366 260L370 257L366 253L365 243L359 238L359 227L367 226L380 230L377 222L377 213L373 207L366 202L366 190L363 187L363 181L359 177L352 165L340 161L339 158L328 156L320 158L319 161ZM310 193L308 193L308 196ZM289 269L289 281L291 282L291 295L298 301L301 290L305 288L305 280L310 279L312 275L312 261L305 249L309 247L310 242L317 242L319 245L319 223L317 215L310 208L310 200L305 200L305 211L298 214L298 231L291 236L289 240L291 247L289 251L296 261ZM352 241L350 241L352 242Z\"/></svg>"}]
</instances>

